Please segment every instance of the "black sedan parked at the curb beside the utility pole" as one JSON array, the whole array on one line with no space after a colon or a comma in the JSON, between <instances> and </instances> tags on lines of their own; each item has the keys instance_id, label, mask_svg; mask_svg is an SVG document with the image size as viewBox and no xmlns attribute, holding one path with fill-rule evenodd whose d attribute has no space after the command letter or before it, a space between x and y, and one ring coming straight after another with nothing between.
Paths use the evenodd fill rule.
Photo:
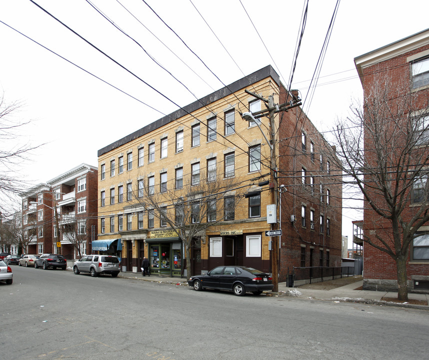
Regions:
<instances>
[{"instance_id":1,"label":"black sedan parked at the curb beside the utility pole","mask_svg":"<svg viewBox=\"0 0 429 360\"><path fill-rule=\"evenodd\" d=\"M244 296L246 291L259 295L272 290L269 274L245 266L218 266L206 274L190 277L187 283L196 291L212 288L233 291L237 296Z\"/></svg>"}]
</instances>

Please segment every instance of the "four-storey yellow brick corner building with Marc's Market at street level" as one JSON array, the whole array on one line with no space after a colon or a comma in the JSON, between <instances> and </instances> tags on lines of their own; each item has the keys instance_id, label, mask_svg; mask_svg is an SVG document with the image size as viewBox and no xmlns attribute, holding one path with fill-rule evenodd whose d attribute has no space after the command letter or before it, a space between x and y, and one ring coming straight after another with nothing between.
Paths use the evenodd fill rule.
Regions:
<instances>
[{"instance_id":1,"label":"four-storey yellow brick corner building with Marc's Market at street level","mask_svg":"<svg viewBox=\"0 0 429 360\"><path fill-rule=\"evenodd\" d=\"M266 66L98 150L97 242L122 257L123 269L140 271L147 256L153 272L183 276L183 244L153 213L146 196L174 193L173 203L165 203L170 211L179 199L190 197L186 178L190 189L202 182L219 181L224 189L234 184L228 191L219 188L221 201L213 202L212 209L217 215L210 212L202 220L221 218L196 236L187 259L193 274L222 264L271 271L265 231L270 229L266 205L272 203L272 191L278 195L277 222L281 202L279 281L293 266L340 266L341 184L328 180L338 175L330 166L332 148L299 107L276 113L275 188L269 121L257 117L265 105L246 89L264 99L272 94L275 104L292 99ZM246 111L256 121L245 121L240 114ZM171 211L171 217L177 216L177 209ZM304 280L308 271L296 275Z\"/></svg>"}]
</instances>

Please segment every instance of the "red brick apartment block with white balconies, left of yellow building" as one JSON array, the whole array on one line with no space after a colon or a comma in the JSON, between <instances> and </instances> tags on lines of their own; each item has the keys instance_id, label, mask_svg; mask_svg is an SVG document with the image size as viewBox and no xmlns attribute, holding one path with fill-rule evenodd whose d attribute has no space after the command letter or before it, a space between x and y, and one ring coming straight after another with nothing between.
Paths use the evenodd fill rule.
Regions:
<instances>
[{"instance_id":1,"label":"red brick apartment block with white balconies, left of yellow building","mask_svg":"<svg viewBox=\"0 0 429 360\"><path fill-rule=\"evenodd\" d=\"M97 167L82 163L22 193L24 238L30 239L23 252L74 259L79 245L82 254L90 253L97 235L97 178Z\"/></svg>"}]
</instances>

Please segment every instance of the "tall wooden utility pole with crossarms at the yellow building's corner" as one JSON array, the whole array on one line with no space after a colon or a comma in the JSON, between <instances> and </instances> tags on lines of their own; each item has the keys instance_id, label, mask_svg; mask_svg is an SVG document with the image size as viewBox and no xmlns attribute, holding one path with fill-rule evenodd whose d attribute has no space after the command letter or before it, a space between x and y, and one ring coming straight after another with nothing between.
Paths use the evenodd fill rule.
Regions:
<instances>
[{"instance_id":1,"label":"tall wooden utility pole with crossarms at the yellow building's corner","mask_svg":"<svg viewBox=\"0 0 429 360\"><path fill-rule=\"evenodd\" d=\"M288 109L292 107L296 107L301 105L300 99L293 97L293 100L283 103L281 105L274 105L274 96L269 95L268 99L265 99L264 97L248 91L244 90L246 93L258 98L259 100L263 101L266 105L265 110L255 111L254 113L250 113L250 118L253 120L260 118L262 116L265 116L266 113L269 118L269 148L270 148L270 161L269 161L269 168L270 168L270 182L269 182L269 188L271 190L271 203L275 204L275 206L278 206L277 200L278 200L278 194L277 194L277 155L276 155L276 143L275 143L275 122L274 122L274 114L280 111L287 111ZM244 113L240 114L245 120L248 120L246 114ZM257 123L257 122L256 122ZM259 125L258 125L259 126ZM259 126L260 129L260 126ZM260 129L262 134L263 131ZM264 135L265 137L265 135ZM276 230L277 229L277 222L270 224L270 230ZM277 292L278 291L278 236L273 236L272 240L272 247L271 247L271 272L272 272L272 291Z\"/></svg>"}]
</instances>

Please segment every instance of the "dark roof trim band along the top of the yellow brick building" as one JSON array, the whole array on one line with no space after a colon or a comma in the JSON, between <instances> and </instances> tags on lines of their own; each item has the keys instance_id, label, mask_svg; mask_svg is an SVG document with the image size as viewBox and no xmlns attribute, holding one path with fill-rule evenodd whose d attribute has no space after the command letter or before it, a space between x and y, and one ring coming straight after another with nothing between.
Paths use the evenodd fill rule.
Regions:
<instances>
[{"instance_id":1,"label":"dark roof trim band along the top of the yellow brick building","mask_svg":"<svg viewBox=\"0 0 429 360\"><path fill-rule=\"evenodd\" d=\"M161 127L171 121L174 121L186 115L188 112L195 111L203 105L208 105L214 101L217 101L222 97L230 95L231 93L238 91L239 89L242 89L246 86L249 86L257 81L260 81L263 78L268 76L271 76L277 84L280 84L280 79L278 77L278 74L275 72L275 70L272 68L271 65L267 65L247 76L244 76L243 78L237 81L232 82L231 84L225 87L222 87L217 91L212 92L211 94L208 94L200 98L199 100L196 100L186 106L183 106L183 108L179 108L176 111L171 112L170 114L163 116L160 119L157 119L156 121L153 121L152 123L138 129L137 131L130 133L129 135L126 135L125 137L122 137L119 140L116 140L115 142L112 142L111 144L99 149L97 152L97 156L101 156L102 154L105 154L106 152L109 152L116 147L122 146L127 142L130 142L140 136L145 135L146 133L149 133L157 129L158 127Z\"/></svg>"}]
</instances>

